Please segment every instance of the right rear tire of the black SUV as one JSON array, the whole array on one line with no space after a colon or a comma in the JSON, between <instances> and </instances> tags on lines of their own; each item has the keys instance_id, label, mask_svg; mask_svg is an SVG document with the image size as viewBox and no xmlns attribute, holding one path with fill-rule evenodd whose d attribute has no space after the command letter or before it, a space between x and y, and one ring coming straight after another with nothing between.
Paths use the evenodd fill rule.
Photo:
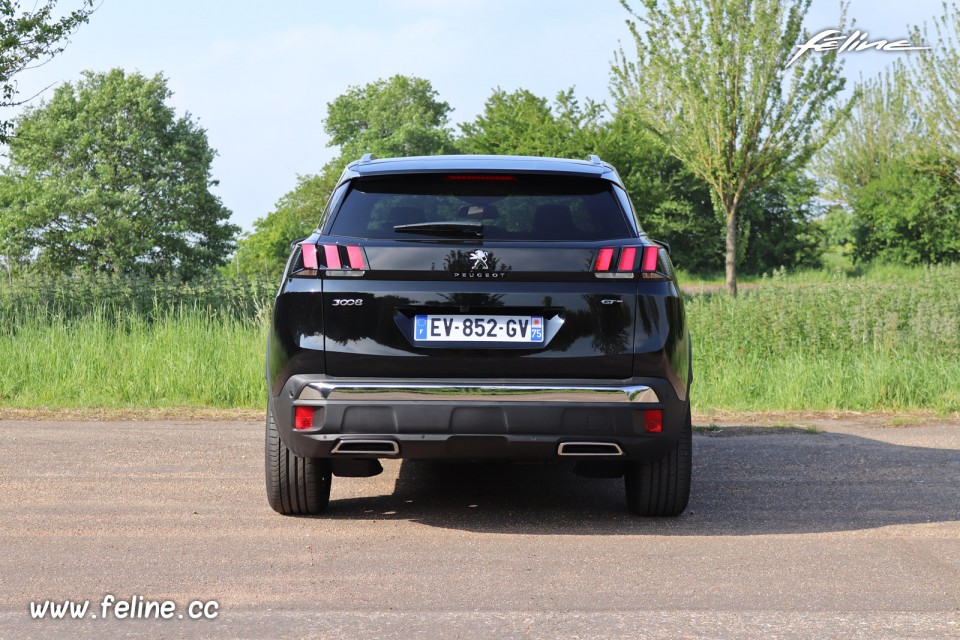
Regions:
<instances>
[{"instance_id":1,"label":"right rear tire of the black SUV","mask_svg":"<svg viewBox=\"0 0 960 640\"><path fill-rule=\"evenodd\" d=\"M624 484L627 507L638 516L672 517L683 513L690 500L693 428L690 409L680 428L676 448L658 460L627 463Z\"/></svg>"}]
</instances>

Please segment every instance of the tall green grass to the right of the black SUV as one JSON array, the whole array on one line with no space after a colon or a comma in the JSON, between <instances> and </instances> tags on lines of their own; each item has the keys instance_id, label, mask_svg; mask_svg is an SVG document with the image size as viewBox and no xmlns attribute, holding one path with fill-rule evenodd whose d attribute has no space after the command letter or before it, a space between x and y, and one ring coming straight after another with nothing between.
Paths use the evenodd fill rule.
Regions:
<instances>
[{"instance_id":1,"label":"tall green grass to the right of the black SUV","mask_svg":"<svg viewBox=\"0 0 960 640\"><path fill-rule=\"evenodd\" d=\"M960 267L690 297L700 410L960 410Z\"/></svg>"}]
</instances>

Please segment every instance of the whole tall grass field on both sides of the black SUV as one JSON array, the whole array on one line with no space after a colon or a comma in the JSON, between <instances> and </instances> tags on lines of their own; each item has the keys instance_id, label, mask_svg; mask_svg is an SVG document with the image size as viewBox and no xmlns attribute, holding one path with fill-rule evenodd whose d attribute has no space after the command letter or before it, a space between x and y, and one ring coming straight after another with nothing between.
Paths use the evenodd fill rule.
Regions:
<instances>
[{"instance_id":1,"label":"whole tall grass field on both sides of the black SUV","mask_svg":"<svg viewBox=\"0 0 960 640\"><path fill-rule=\"evenodd\" d=\"M960 410L960 266L687 296L694 409ZM263 406L275 283L0 284L0 407Z\"/></svg>"}]
</instances>

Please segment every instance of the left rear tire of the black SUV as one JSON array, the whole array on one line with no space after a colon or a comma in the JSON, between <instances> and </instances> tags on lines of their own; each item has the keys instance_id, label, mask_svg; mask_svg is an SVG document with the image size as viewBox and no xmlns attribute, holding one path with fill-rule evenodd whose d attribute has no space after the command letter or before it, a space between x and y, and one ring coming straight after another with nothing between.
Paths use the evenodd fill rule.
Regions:
<instances>
[{"instance_id":1,"label":"left rear tire of the black SUV","mask_svg":"<svg viewBox=\"0 0 960 640\"><path fill-rule=\"evenodd\" d=\"M330 502L330 461L301 458L280 439L273 412L267 408L264 467L267 502L288 516L319 515Z\"/></svg>"}]
</instances>

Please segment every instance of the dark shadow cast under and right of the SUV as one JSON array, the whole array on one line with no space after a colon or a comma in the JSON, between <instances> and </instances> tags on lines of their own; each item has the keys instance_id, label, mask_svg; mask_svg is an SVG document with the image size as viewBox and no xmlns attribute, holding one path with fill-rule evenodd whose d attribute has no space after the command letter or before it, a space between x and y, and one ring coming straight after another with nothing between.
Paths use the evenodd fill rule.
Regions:
<instances>
[{"instance_id":1,"label":"dark shadow cast under and right of the SUV","mask_svg":"<svg viewBox=\"0 0 960 640\"><path fill-rule=\"evenodd\" d=\"M955 521L960 451L789 429L698 434L690 505L664 519L628 514L621 479L581 478L568 464L405 460L391 494L337 499L335 490L326 517L521 535L790 534Z\"/></svg>"}]
</instances>

